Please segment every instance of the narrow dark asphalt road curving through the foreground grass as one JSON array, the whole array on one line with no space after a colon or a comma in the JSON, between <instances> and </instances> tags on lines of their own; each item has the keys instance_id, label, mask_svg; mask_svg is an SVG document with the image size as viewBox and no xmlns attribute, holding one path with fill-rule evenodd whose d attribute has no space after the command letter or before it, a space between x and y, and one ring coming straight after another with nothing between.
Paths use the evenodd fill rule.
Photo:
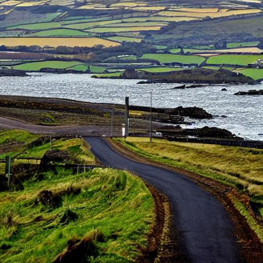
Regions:
<instances>
[{"instance_id":1,"label":"narrow dark asphalt road curving through the foreground grass","mask_svg":"<svg viewBox=\"0 0 263 263\"><path fill-rule=\"evenodd\" d=\"M232 222L222 204L186 176L116 153L102 138L86 138L106 166L135 172L170 199L173 223L193 263L238 263Z\"/></svg>"}]
</instances>

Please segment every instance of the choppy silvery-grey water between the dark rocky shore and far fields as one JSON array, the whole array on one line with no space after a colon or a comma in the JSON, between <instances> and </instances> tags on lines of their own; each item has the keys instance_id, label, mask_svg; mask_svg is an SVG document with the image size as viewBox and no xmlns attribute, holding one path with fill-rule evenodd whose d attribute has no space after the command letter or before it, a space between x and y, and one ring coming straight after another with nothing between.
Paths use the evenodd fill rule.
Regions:
<instances>
[{"instance_id":1,"label":"choppy silvery-grey water between the dark rocky shore and far fields","mask_svg":"<svg viewBox=\"0 0 263 263\"><path fill-rule=\"evenodd\" d=\"M263 140L263 96L234 96L237 91L263 89L263 83L217 85L172 90L176 84L136 84L138 80L92 79L90 74L30 73L31 77L1 77L1 95L67 98L89 102L124 103L149 106L153 91L154 107L198 106L212 115L226 115L197 121L194 126L226 128L247 139ZM227 91L221 91L225 87Z\"/></svg>"}]
</instances>

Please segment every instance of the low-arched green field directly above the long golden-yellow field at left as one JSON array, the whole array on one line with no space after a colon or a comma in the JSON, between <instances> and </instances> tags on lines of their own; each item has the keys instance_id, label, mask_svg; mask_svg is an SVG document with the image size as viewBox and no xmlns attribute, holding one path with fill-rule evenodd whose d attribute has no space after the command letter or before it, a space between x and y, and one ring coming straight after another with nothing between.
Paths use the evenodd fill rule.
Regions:
<instances>
[{"instance_id":1,"label":"low-arched green field directly above the long golden-yellow field at left","mask_svg":"<svg viewBox=\"0 0 263 263\"><path fill-rule=\"evenodd\" d=\"M89 36L89 33L73 29L50 29L31 33L30 36Z\"/></svg>"}]
</instances>

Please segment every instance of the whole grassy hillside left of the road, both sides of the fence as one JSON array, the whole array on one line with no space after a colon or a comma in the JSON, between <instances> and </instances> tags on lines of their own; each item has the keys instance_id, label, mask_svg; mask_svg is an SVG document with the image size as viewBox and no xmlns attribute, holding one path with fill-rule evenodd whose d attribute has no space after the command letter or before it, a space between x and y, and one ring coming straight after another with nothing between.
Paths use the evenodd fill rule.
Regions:
<instances>
[{"instance_id":1,"label":"whole grassy hillside left of the road, both sides of the fence","mask_svg":"<svg viewBox=\"0 0 263 263\"><path fill-rule=\"evenodd\" d=\"M0 170L0 261L134 262L155 219L147 187L125 171L76 173L58 166L55 153L68 156L66 162L95 164L95 158L81 139L53 139L53 152L48 139L20 130L0 133L1 159L14 151L20 158L45 155L41 165L12 162L11 192ZM48 153L57 166L49 166Z\"/></svg>"}]
</instances>

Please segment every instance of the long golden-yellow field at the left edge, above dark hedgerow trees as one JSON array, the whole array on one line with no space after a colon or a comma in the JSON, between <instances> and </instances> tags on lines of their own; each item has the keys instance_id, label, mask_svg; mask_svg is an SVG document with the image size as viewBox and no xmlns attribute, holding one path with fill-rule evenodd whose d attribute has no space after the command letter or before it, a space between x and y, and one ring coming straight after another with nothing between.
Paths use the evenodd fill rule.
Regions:
<instances>
[{"instance_id":1,"label":"long golden-yellow field at the left edge, above dark hedgerow trees","mask_svg":"<svg viewBox=\"0 0 263 263\"><path fill-rule=\"evenodd\" d=\"M67 47L104 47L119 46L120 43L99 39L98 37L0 37L0 45L14 46L67 46Z\"/></svg>"}]
</instances>

